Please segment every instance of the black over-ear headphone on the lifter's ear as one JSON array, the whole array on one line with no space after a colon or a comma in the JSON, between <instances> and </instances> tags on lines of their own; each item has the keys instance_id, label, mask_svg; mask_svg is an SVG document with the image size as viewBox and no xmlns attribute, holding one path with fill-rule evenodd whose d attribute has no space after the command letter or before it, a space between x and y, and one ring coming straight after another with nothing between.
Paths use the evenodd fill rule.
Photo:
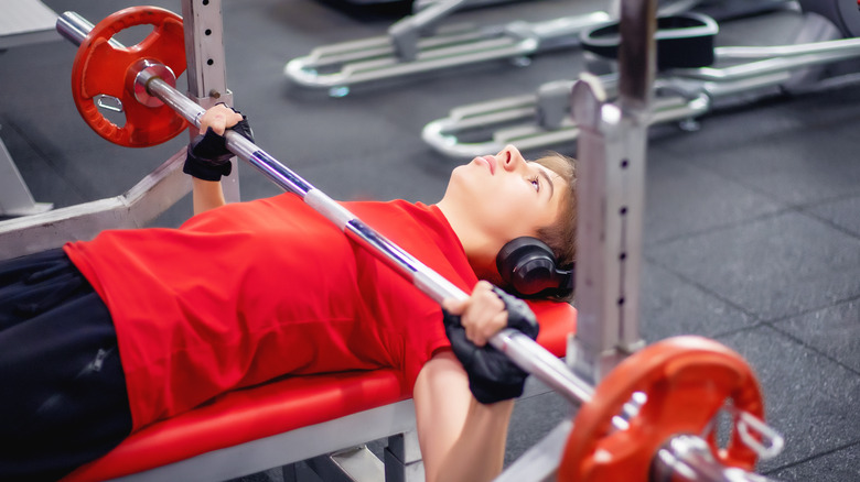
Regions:
<instances>
[{"instance_id":1,"label":"black over-ear headphone on the lifter's ear","mask_svg":"<svg viewBox=\"0 0 860 482\"><path fill-rule=\"evenodd\" d=\"M573 265L558 267L552 250L537 238L517 238L502 248L496 267L519 297L565 297L573 292Z\"/></svg>"}]
</instances>

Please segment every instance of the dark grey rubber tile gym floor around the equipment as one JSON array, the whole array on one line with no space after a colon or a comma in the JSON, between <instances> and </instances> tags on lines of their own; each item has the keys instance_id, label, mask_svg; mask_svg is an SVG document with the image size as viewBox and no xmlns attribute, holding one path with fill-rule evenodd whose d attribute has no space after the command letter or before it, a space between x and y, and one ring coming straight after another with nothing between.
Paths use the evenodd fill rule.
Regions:
<instances>
[{"instance_id":1,"label":"dark grey rubber tile gym floor around the equipment","mask_svg":"<svg viewBox=\"0 0 860 482\"><path fill-rule=\"evenodd\" d=\"M45 3L93 22L137 4ZM181 12L179 0L150 3ZM534 0L452 20L538 21L605 3ZM583 65L581 53L568 50L537 55L527 67L475 65L330 98L291 87L284 63L318 45L383 34L398 17L314 0L225 1L223 9L228 86L257 142L338 199L438 200L456 162L421 141L427 122L456 106L574 78ZM785 42L791 31L782 21L732 22L719 43ZM186 142L180 135L136 150L93 133L71 96L74 55L60 40L0 54L0 138L36 200L56 207L117 196ZM742 103L700 119L698 131L663 127L651 135L642 332L649 342L705 335L746 358L764 388L767 421L785 436L783 453L760 463L777 480L860 481L858 132L860 84ZM247 166L240 171L244 199L279 191ZM158 223L176 226L190 204ZM519 403L507 462L570 413L552 393Z\"/></svg>"}]
</instances>

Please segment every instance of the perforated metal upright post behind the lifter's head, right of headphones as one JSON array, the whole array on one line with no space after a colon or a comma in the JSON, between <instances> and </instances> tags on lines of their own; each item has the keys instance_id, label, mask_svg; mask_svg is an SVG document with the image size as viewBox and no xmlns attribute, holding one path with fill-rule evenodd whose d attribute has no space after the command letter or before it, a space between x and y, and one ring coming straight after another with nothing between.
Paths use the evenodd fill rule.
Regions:
<instances>
[{"instance_id":1,"label":"perforated metal upright post behind the lifter's head, right of headphones","mask_svg":"<svg viewBox=\"0 0 860 482\"><path fill-rule=\"evenodd\" d=\"M620 97L606 102L600 80L584 74L573 86L580 125L577 245L577 336L568 363L598 384L644 346L638 332L645 151L656 66L654 0L623 0Z\"/></svg>"}]
</instances>

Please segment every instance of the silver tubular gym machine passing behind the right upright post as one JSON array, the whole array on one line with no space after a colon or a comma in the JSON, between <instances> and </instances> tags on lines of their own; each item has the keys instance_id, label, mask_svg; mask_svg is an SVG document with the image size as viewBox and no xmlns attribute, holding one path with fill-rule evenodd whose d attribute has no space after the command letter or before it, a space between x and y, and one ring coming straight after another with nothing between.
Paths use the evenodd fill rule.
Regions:
<instances>
[{"instance_id":1,"label":"silver tubular gym machine passing behind the right upright post","mask_svg":"<svg viewBox=\"0 0 860 482\"><path fill-rule=\"evenodd\" d=\"M857 6L850 0L828 0L816 1L816 7L809 9L809 3L813 2L800 2L799 7L793 2L780 3L783 8L776 10L777 13L802 15L803 19L795 42L788 45L717 46L712 52L702 52L702 44L717 35L717 23L712 19L700 13L666 18L667 29L663 29L658 37L667 45L666 56L671 55L673 59L665 61L655 81L651 122L677 122L681 129L697 129L697 118L721 107L752 103L781 92L802 94L857 81L857 68L828 72L834 64L860 56L860 40L850 37L851 31L847 28L840 30L838 26L846 22L839 17L838 12L842 10L837 6L852 4L851 20L858 22ZM765 14L773 14L774 3L765 7L768 7ZM797 8L804 10L796 12ZM696 19L701 19L700 24L680 24ZM589 69L602 75L608 95L615 96L614 50L604 45L616 43L617 35L600 35L600 30L584 31L583 46L592 55ZM678 59L696 65L677 63ZM522 150L570 145L579 135L570 117L571 85L572 80L556 80L541 85L531 95L453 108L448 117L429 122L422 138L436 151L455 158L493 152L506 144Z\"/></svg>"}]
</instances>

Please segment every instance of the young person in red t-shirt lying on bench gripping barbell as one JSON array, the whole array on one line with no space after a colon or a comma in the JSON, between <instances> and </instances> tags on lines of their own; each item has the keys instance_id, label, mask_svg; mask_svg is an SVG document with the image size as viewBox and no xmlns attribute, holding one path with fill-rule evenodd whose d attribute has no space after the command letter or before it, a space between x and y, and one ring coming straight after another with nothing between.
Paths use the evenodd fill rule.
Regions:
<instances>
[{"instance_id":1,"label":"young person in red t-shirt lying on bench gripping barbell","mask_svg":"<svg viewBox=\"0 0 860 482\"><path fill-rule=\"evenodd\" d=\"M526 162L508 146L454 168L436 205L344 202L471 293L442 308L298 196L225 205L222 135L250 129L225 106L201 123L185 163L195 216L182 227L104 231L0 263L0 479L60 479L232 390L379 368L413 386L428 481L498 474L526 373L486 343L538 327L491 284L504 285L496 256L528 235L572 263L572 161Z\"/></svg>"}]
</instances>

